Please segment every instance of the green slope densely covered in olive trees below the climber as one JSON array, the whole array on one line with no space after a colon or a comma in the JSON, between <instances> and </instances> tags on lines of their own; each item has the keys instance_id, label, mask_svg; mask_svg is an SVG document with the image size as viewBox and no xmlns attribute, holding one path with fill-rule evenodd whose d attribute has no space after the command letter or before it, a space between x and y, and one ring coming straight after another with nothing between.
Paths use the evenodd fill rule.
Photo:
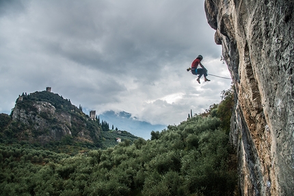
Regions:
<instances>
[{"instance_id":1,"label":"green slope densely covered in olive trees below the climber","mask_svg":"<svg viewBox=\"0 0 294 196\"><path fill-rule=\"evenodd\" d=\"M1 145L1 195L237 195L232 94L151 139L75 156Z\"/></svg>"}]
</instances>

